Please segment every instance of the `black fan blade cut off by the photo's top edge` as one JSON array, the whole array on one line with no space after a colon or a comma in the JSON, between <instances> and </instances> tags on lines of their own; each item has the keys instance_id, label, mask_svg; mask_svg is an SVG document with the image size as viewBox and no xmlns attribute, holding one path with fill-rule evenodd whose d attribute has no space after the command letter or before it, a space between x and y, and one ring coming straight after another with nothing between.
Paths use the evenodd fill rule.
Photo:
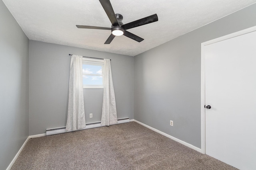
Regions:
<instances>
[{"instance_id":1,"label":"black fan blade cut off by the photo's top edge","mask_svg":"<svg viewBox=\"0 0 256 170\"><path fill-rule=\"evenodd\" d=\"M119 26L110 0L99 0L113 26Z\"/></svg>"}]
</instances>

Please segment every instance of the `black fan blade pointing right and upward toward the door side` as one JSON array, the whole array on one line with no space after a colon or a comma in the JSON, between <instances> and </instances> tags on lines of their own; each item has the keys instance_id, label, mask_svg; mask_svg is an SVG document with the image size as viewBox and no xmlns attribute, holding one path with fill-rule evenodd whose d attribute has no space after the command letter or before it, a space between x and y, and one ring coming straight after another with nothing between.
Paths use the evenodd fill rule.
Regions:
<instances>
[{"instance_id":1,"label":"black fan blade pointing right and upward toward the door side","mask_svg":"<svg viewBox=\"0 0 256 170\"><path fill-rule=\"evenodd\" d=\"M158 17L157 17L156 14L154 14L152 16L148 16L148 17L142 18L140 20L136 20L136 21L132 21L130 23L126 23L126 24L122 25L122 28L130 29L130 28L138 27L138 26L145 25L145 24L152 23L152 22L156 22L156 21L158 21Z\"/></svg>"}]
</instances>

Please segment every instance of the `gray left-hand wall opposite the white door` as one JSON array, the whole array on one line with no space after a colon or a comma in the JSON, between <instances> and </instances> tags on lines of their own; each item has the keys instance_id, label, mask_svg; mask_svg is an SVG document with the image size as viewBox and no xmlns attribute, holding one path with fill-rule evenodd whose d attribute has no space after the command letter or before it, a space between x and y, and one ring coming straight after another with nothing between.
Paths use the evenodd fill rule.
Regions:
<instances>
[{"instance_id":1,"label":"gray left-hand wall opposite the white door","mask_svg":"<svg viewBox=\"0 0 256 170\"><path fill-rule=\"evenodd\" d=\"M28 137L29 40L0 0L0 169Z\"/></svg>"}]
</instances>

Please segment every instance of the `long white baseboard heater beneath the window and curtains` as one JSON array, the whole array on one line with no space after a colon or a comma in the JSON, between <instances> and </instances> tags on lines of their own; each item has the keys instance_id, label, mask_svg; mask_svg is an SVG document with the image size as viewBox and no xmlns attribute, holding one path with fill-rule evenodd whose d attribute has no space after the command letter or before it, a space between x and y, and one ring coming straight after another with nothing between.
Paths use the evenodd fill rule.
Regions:
<instances>
[{"instance_id":1,"label":"long white baseboard heater beneath the window and curtains","mask_svg":"<svg viewBox=\"0 0 256 170\"><path fill-rule=\"evenodd\" d=\"M116 124L127 123L127 122L130 122L130 119L123 118L123 119L118 119L118 122ZM79 129L78 131L84 130L84 129L91 129L91 128L95 128L95 127L103 127L103 126L105 126L105 125L100 125L100 121L94 122L94 123L86 123L86 127L84 127L83 129ZM46 129L46 136L56 135L59 133L66 133L66 132L70 132L70 131L66 131L66 126L50 128L50 129Z\"/></svg>"}]
</instances>

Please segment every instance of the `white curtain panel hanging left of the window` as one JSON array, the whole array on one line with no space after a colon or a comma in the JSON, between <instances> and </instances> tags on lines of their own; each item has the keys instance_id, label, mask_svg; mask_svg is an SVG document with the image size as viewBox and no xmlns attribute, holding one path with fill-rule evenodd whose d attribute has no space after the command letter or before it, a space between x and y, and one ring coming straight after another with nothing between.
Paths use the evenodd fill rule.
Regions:
<instances>
[{"instance_id":1,"label":"white curtain panel hanging left of the window","mask_svg":"<svg viewBox=\"0 0 256 170\"><path fill-rule=\"evenodd\" d=\"M68 92L68 119L66 131L75 131L86 126L83 92L83 57L72 55Z\"/></svg>"}]
</instances>

